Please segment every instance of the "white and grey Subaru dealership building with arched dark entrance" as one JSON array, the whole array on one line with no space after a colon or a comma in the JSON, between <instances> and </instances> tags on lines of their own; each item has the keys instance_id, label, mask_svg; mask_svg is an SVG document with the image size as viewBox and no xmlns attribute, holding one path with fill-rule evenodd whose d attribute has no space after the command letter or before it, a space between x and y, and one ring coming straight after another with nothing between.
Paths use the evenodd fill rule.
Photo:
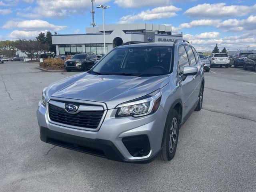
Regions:
<instances>
[{"instance_id":1,"label":"white and grey Subaru dealership building with arched dark entrance","mask_svg":"<svg viewBox=\"0 0 256 192\"><path fill-rule=\"evenodd\" d=\"M104 54L103 25L86 28L85 34L52 35L57 55L74 55L92 52ZM172 26L157 24L108 24L105 25L106 53L116 46L131 41L174 42L182 34L172 35Z\"/></svg>"}]
</instances>

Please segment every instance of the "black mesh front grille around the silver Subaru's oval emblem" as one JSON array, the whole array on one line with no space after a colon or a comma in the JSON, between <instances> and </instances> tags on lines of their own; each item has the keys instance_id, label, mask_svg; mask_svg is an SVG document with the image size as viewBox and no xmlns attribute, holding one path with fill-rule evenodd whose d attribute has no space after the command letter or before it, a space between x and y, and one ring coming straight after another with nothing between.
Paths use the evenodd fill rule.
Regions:
<instances>
[{"instance_id":1,"label":"black mesh front grille around the silver Subaru's oval emblem","mask_svg":"<svg viewBox=\"0 0 256 192\"><path fill-rule=\"evenodd\" d=\"M77 114L67 113L63 108L48 104L50 120L62 124L94 128L100 124L104 111L81 111Z\"/></svg>"}]
</instances>

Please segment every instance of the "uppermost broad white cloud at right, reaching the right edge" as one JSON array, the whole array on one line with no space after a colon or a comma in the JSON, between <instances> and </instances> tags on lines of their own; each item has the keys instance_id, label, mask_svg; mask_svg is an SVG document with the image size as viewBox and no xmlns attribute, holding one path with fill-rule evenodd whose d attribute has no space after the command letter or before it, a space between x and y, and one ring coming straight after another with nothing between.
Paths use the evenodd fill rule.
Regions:
<instances>
[{"instance_id":1,"label":"uppermost broad white cloud at right, reaching the right edge","mask_svg":"<svg viewBox=\"0 0 256 192\"><path fill-rule=\"evenodd\" d=\"M254 4L254 6L226 6L226 3L204 3L189 8L184 12L184 14L194 18L230 18L231 16L245 16L254 13L255 11L256 4Z\"/></svg>"}]
</instances>

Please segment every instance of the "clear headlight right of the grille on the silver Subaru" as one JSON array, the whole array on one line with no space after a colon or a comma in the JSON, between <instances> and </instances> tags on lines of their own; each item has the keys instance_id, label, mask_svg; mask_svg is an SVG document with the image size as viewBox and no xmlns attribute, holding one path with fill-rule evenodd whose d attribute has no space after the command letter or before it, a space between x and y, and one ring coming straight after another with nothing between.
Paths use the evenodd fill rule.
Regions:
<instances>
[{"instance_id":1,"label":"clear headlight right of the grille on the silver Subaru","mask_svg":"<svg viewBox=\"0 0 256 192\"><path fill-rule=\"evenodd\" d=\"M116 117L140 117L152 114L158 110L161 102L162 94L160 90L156 90L142 98L132 100L116 106L118 109Z\"/></svg>"}]
</instances>

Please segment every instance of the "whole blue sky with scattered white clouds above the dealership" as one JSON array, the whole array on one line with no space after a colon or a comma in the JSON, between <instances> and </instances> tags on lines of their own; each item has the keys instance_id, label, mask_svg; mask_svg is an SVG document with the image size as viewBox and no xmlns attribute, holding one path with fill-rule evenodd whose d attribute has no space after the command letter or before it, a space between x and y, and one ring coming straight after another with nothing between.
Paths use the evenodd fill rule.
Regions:
<instances>
[{"instance_id":1,"label":"whole blue sky with scattered white clouds above the dealership","mask_svg":"<svg viewBox=\"0 0 256 192\"><path fill-rule=\"evenodd\" d=\"M169 24L198 50L218 43L230 50L256 49L256 0L95 0L110 5L105 23ZM0 0L0 40L33 39L39 32L85 33L90 0ZM102 10L96 9L96 24Z\"/></svg>"}]
</instances>

